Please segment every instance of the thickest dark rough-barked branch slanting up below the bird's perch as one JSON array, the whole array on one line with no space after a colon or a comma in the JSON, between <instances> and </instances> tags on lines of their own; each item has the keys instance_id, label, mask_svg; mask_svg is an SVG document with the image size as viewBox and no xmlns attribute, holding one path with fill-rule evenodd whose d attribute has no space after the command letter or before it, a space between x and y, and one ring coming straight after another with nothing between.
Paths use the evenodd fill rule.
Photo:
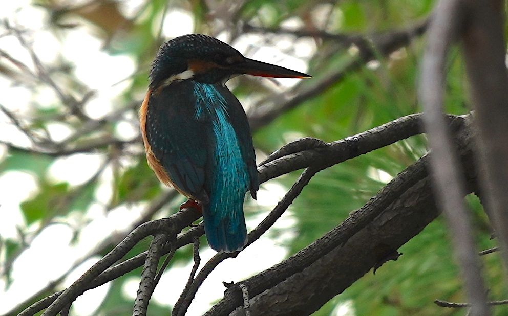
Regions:
<instances>
[{"instance_id":1,"label":"thickest dark rough-barked branch slanting up below the bird's perch","mask_svg":"<svg viewBox=\"0 0 508 316\"><path fill-rule=\"evenodd\" d=\"M476 172L467 129L461 129L457 143L467 170L468 192L472 192ZM304 250L240 282L253 298L252 314L311 314L434 220L439 212L428 177L428 158L401 172L362 209ZM241 291L232 288L205 315L228 315L242 305ZM241 314L237 310L233 315Z\"/></svg>"}]
</instances>

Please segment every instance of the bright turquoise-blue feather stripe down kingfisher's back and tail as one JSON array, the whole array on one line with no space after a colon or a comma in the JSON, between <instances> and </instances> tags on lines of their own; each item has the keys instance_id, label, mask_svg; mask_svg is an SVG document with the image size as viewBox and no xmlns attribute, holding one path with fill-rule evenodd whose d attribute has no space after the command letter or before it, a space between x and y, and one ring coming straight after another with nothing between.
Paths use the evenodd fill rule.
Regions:
<instances>
[{"instance_id":1,"label":"bright turquoise-blue feather stripe down kingfisher's back and tail","mask_svg":"<svg viewBox=\"0 0 508 316\"><path fill-rule=\"evenodd\" d=\"M211 119L215 136L213 179L209 204L203 206L208 244L216 251L233 252L247 242L243 200L249 173L226 100L213 84L195 83L196 120Z\"/></svg>"}]
</instances>

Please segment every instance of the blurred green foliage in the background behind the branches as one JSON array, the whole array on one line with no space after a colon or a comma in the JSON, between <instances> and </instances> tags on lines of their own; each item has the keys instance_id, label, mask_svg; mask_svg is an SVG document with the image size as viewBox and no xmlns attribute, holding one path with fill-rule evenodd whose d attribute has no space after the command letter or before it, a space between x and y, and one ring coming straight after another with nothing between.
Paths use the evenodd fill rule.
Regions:
<instances>
[{"instance_id":1,"label":"blurred green foliage in the background behind the branches","mask_svg":"<svg viewBox=\"0 0 508 316\"><path fill-rule=\"evenodd\" d=\"M430 0L378 0L378 1L309 1L309 0L247 0L240 6L234 0L224 1L172 1L146 0L139 2L135 12L127 17L122 11L122 2L113 0L91 0L72 5L60 0L34 0L33 5L50 13L50 29L62 33L86 24L90 32L103 42L103 49L111 55L128 53L136 61L138 69L132 76L129 89L123 92L116 105L136 117L147 85L149 64L158 46L165 40L160 33L165 10L179 8L194 17L195 32L217 35L221 32L235 34L244 23L267 28L278 28L288 19L298 18L304 29L316 30L316 21L328 19L324 29L330 33L368 34L372 32L400 29L425 19L434 5ZM219 10L234 7L238 10L230 20L221 20ZM328 16L323 16L325 13ZM227 23L226 23L227 22ZM178 26L175 26L178 28ZM240 34L237 34L240 35ZM316 40L316 55L309 61L308 73L319 80L323 74L337 69L350 58L348 47L335 50L336 43ZM419 111L416 97L418 60L422 53L422 38L398 50L389 58L370 62L359 70L345 75L344 79L323 91L319 96L305 101L297 108L286 112L254 134L258 150L269 154L280 146L299 137L311 136L325 141L340 140L369 128L387 123L398 117ZM330 53L332 51L333 53ZM325 54L326 53L326 54ZM73 65L62 56L58 67L59 75L69 82L66 89L72 95L84 97L89 89L73 76ZM469 111L465 74L459 51L452 52L449 62L447 111L464 114ZM2 71L2 69L0 69ZM8 74L2 71L2 75ZM64 80L64 81L65 81ZM254 89L270 91L257 81L240 81L235 93L242 99L248 98ZM247 84L246 84L247 83ZM312 81L309 80L309 83ZM37 100L34 100L37 103ZM54 120L66 122L76 129L86 127L81 121L69 117L68 109L59 104L51 108L46 105L34 107L34 128L41 131ZM113 137L115 120L104 120L100 128L94 129L77 142L90 139ZM123 146L129 146L124 144ZM137 143L139 145L139 142ZM121 147L121 146L120 146ZM142 150L133 149L128 163L121 163L125 148L118 153L115 145L98 148L113 164L113 198L109 209L122 204L153 200L161 193L161 186L145 162ZM290 253L295 253L335 227L348 214L361 207L386 183L386 176L394 177L426 152L425 136L413 137L386 148L362 155L318 173L292 205L298 225L292 229L297 237L288 244ZM0 162L4 171L22 170L34 174L39 191L22 204L27 227L20 228L24 236L33 229L33 224L44 227L55 217L65 220L70 212L85 211L96 199L99 177L78 187L66 183L52 183L47 179L47 170L56 157L10 149ZM290 187L299 172L278 179ZM378 175L385 174L385 178ZM481 249L494 246L490 238L488 220L479 201L468 197L474 211L476 238ZM164 209L168 215L175 211ZM256 212L251 212L256 213ZM32 228L29 229L29 225ZM26 232L23 232L26 230ZM22 238L23 239L23 238ZM19 255L23 240L1 240L6 261ZM127 257L146 249L149 241L138 244ZM100 250L107 253L113 244ZM376 275L367 274L335 297L315 313L316 316L331 315L337 304L352 300L355 315L462 315L464 310L443 309L433 301L442 299L453 302L464 301L461 281L451 255L446 223L440 218L431 223L422 233L401 247L404 255L390 261L377 270ZM175 262L188 262L192 252L188 247L176 253ZM483 257L485 275L489 280L492 299L506 297L502 286L502 269L498 254ZM170 267L171 268L171 265ZM131 277L139 277L135 270L112 282L100 314L130 314L132 302L122 296L122 285ZM52 289L49 289L52 290ZM48 292L50 294L50 292ZM494 308L494 315L502 315L508 308ZM168 313L167 307L151 303L151 315Z\"/></svg>"}]
</instances>

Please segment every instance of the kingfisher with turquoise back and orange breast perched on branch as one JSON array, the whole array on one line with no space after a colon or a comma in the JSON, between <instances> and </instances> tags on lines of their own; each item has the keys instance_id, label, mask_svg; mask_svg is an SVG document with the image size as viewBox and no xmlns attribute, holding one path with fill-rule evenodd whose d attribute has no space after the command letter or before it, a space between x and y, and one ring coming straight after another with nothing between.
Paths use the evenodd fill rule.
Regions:
<instances>
[{"instance_id":1,"label":"kingfisher with turquoise back and orange breast perched on branch","mask_svg":"<svg viewBox=\"0 0 508 316\"><path fill-rule=\"evenodd\" d=\"M245 111L225 86L238 75L310 76L244 57L207 35L164 43L152 63L140 108L146 158L159 180L202 211L206 239L217 252L247 243L245 193L256 199L259 175Z\"/></svg>"}]
</instances>

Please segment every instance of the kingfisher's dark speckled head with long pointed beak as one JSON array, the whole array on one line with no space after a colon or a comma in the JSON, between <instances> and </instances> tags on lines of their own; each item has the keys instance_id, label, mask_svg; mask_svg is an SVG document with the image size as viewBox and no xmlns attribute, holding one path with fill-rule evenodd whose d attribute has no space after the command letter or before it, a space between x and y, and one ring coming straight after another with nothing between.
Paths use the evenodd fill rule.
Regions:
<instances>
[{"instance_id":1,"label":"kingfisher's dark speckled head with long pointed beak","mask_svg":"<svg viewBox=\"0 0 508 316\"><path fill-rule=\"evenodd\" d=\"M310 78L284 67L244 57L228 44L202 34L188 34L164 43L152 63L153 91L181 80L226 82L236 75L276 78Z\"/></svg>"}]
</instances>

